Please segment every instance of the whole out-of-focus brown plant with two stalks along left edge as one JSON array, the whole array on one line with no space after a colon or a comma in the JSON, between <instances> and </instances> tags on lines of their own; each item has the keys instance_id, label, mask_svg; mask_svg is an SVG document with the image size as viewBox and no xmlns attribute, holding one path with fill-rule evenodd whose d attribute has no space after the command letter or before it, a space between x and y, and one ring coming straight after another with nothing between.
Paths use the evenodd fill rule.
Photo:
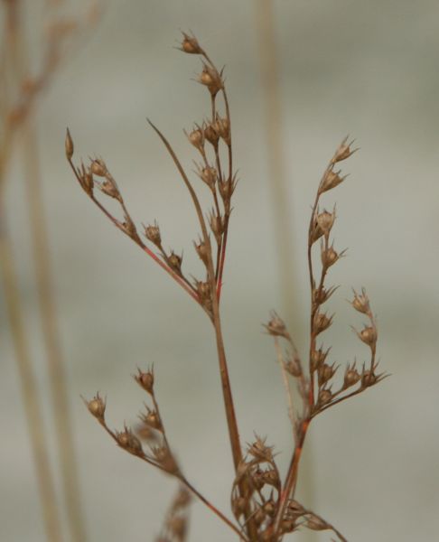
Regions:
<instances>
[{"instance_id":1,"label":"whole out-of-focus brown plant with two stalks along left edge","mask_svg":"<svg viewBox=\"0 0 439 542\"><path fill-rule=\"evenodd\" d=\"M61 480L66 500L71 537L86 540L78 487L78 472L72 440L68 393L62 366L61 347L57 330L57 314L53 302L53 287L49 262L48 236L44 224L42 205L42 179L38 163L37 140L32 117L38 98L53 79L67 51L70 38L79 30L79 21L56 14L55 5L47 6L50 23L46 28L42 66L31 74L27 66L27 43L23 33L23 0L3 0L5 12L4 42L0 58L0 240L2 245L1 266L5 297L11 331L14 340L15 359L19 367L22 395L28 418L29 433L33 446L34 463L41 493L43 516L49 540L61 540L59 511L53 490L47 440L42 425L42 407L33 378L30 347L26 337L23 307L15 270L11 238L5 224L5 189L8 167L14 148L22 136L23 173L27 181L26 195L31 222L33 257L37 294L42 313L42 336L45 343L49 369L51 399L59 453ZM96 8L89 14L94 18Z\"/></svg>"}]
</instances>

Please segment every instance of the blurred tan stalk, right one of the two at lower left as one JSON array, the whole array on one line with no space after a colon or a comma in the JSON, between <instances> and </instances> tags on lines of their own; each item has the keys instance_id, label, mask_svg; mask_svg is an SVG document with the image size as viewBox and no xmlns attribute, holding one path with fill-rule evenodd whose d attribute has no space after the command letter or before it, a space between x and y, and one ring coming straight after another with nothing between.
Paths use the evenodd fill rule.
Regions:
<instances>
[{"instance_id":1,"label":"blurred tan stalk, right one of the two at lower left","mask_svg":"<svg viewBox=\"0 0 439 542\"><path fill-rule=\"evenodd\" d=\"M50 248L42 202L42 179L37 141L32 125L24 126L24 132L24 169L27 181L26 194L31 222L36 289L42 315L42 337L46 350L52 412L60 455L61 480L71 537L77 542L85 542L87 536L80 499L79 472L70 418L69 393L57 326L58 317L53 299Z\"/></svg>"}]
</instances>

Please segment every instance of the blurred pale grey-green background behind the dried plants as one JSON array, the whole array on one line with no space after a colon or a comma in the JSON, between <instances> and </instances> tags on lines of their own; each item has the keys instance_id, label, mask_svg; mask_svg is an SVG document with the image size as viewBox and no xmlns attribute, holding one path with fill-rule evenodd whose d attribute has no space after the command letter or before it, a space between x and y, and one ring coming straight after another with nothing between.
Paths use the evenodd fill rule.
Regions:
<instances>
[{"instance_id":1,"label":"blurred pale grey-green background behind the dried plants","mask_svg":"<svg viewBox=\"0 0 439 542\"><path fill-rule=\"evenodd\" d=\"M31 70L39 69L39 29L46 16L39 4L23 3ZM61 9L80 14L89 6L72 4ZM324 342L332 345L332 360L341 364L355 356L367 360L367 348L349 327L360 327L361 319L345 301L351 286L364 285L378 314L381 368L392 377L315 420L299 493L305 506L332 521L349 540L437 539L439 5L434 0L267 4L274 13L277 136L291 228L281 248L269 167L263 61L271 45L262 33L263 2L108 0L98 23L80 34L39 98L44 206L90 541L154 539L175 489L172 479L117 449L80 399L99 390L107 396L109 425L135 423L145 398L131 378L137 366L154 363L164 423L187 477L229 510L232 463L210 324L89 202L64 156L69 126L76 162L79 156L102 155L132 216L138 222L158 220L165 246L183 249L185 265L200 271L191 254L198 229L189 198L146 124L149 117L163 130L191 170L194 154L182 128L201 122L210 103L193 81L198 59L173 49L180 30L193 31L212 59L226 65L240 182L221 304L242 441L251 440L254 431L267 435L285 472L292 436L275 351L261 324L272 309L285 314L299 349L306 352L310 205L325 164L350 134L360 152L342 164L350 175L324 200L328 208L337 203L336 246L349 248L331 273L330 282L341 287L329 303L336 320ZM7 223L56 466L18 153L11 166ZM285 254L293 266L287 291ZM40 542L44 529L3 295L0 538ZM61 501L58 476L56 484ZM194 502L189 538L220 542L230 533Z\"/></svg>"}]
</instances>

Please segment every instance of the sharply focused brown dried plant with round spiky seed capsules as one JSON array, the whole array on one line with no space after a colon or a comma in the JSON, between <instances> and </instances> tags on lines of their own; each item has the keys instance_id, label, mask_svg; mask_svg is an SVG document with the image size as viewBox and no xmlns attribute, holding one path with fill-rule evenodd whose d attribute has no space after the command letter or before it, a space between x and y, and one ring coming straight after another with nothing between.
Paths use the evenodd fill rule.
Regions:
<instances>
[{"instance_id":1,"label":"sharply focused brown dried plant with round spiky seed capsules","mask_svg":"<svg viewBox=\"0 0 439 542\"><path fill-rule=\"evenodd\" d=\"M235 535L248 542L266 541L277 542L289 533L299 528L311 530L331 530L339 540L346 540L339 530L331 523L322 519L303 504L294 499L298 469L304 447L304 439L315 416L320 415L330 406L353 397L377 384L385 377L377 372L376 346L378 339L376 319L371 312L369 298L364 291L354 291L351 305L364 314L368 320L358 334L369 349L370 359L357 367L355 362L345 369L341 381L336 378L339 367L328 362L330 349L324 349L319 342L320 335L331 325L333 315L323 310L323 305L329 300L336 288L325 284L330 267L344 255L337 252L331 240L331 232L336 220L335 209L331 212L320 210L320 202L325 192L331 191L344 181L337 165L355 152L351 143L345 139L336 149L326 170L322 175L313 203L308 232L308 266L311 284L311 319L310 319L310 348L309 360L304 364L294 345L290 333L283 320L273 313L266 323L265 329L275 341L276 355L282 370L285 390L288 397L288 410L294 433L294 450L291 462L283 480L276 466L273 446L266 444L266 438L255 437L245 450L241 447L238 433L238 423L229 382L228 363L224 350L220 320L220 295L222 276L224 272L229 219L232 209L232 197L237 185L237 174L233 167L231 119L229 100L223 77L210 57L201 48L197 39L188 33L183 33L181 51L201 58L202 70L198 77L210 95L210 116L201 123L195 123L191 131L186 133L189 142L195 148L198 156L196 174L207 185L211 195L211 209L203 210L198 196L198 189L173 151L173 146L162 132L149 121L155 133L162 140L170 154L175 167L182 177L191 195L200 223L201 234L193 245L201 258L205 274L198 278L191 275L182 265L182 256L175 251L166 251L160 228L157 222L143 227L143 231L135 224L126 207L126 202L119 191L116 180L107 168L102 158L92 158L89 164L72 162L74 154L73 140L69 130L66 136L66 156L81 188L107 216L113 224L128 238L145 251L154 261L163 267L173 280L201 306L207 314L215 331L220 366L220 378L226 418L229 427L229 444L234 462L234 476L231 488L231 509L235 522L228 519L210 501L197 491L182 472L182 467L175 459L173 448L169 444L164 422L160 415L157 398L154 393L154 371L138 369L135 381L143 388L150 405L140 415L140 424L135 428L124 426L121 431L114 431L107 425L106 402L98 394L90 400L85 400L89 412L108 435L124 449L144 461L176 478L185 491L189 491L197 499L207 505L220 519L231 528ZM223 106L220 108L219 97ZM221 112L222 111L222 112ZM225 152L224 152L225 151ZM104 198L99 197L102 192ZM106 198L117 202L119 214L108 210ZM320 272L315 271L314 248L320 243ZM286 350L283 350L285 342ZM292 384L298 394L292 392ZM300 398L300 404L294 404L294 396ZM186 493L184 493L186 495ZM185 506L176 505L174 501L165 521L163 533L157 540L183 540L186 533ZM182 511L183 509L183 511ZM177 513L178 512L178 513ZM177 526L177 527L175 527Z\"/></svg>"}]
</instances>

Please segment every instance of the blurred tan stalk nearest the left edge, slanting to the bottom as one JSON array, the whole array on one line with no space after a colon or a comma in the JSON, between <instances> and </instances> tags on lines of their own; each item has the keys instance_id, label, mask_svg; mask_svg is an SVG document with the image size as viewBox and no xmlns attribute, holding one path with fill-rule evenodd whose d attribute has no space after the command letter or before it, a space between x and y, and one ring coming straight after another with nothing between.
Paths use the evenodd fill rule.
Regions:
<instances>
[{"instance_id":1,"label":"blurred tan stalk nearest the left edge, slanting to the bottom","mask_svg":"<svg viewBox=\"0 0 439 542\"><path fill-rule=\"evenodd\" d=\"M5 306L14 342L24 413L33 453L42 506L42 517L49 542L61 542L61 523L51 474L48 441L42 421L42 405L33 375L32 361L23 322L23 307L14 263L11 239L6 231L5 206L0 199L0 266L5 292Z\"/></svg>"}]
</instances>

